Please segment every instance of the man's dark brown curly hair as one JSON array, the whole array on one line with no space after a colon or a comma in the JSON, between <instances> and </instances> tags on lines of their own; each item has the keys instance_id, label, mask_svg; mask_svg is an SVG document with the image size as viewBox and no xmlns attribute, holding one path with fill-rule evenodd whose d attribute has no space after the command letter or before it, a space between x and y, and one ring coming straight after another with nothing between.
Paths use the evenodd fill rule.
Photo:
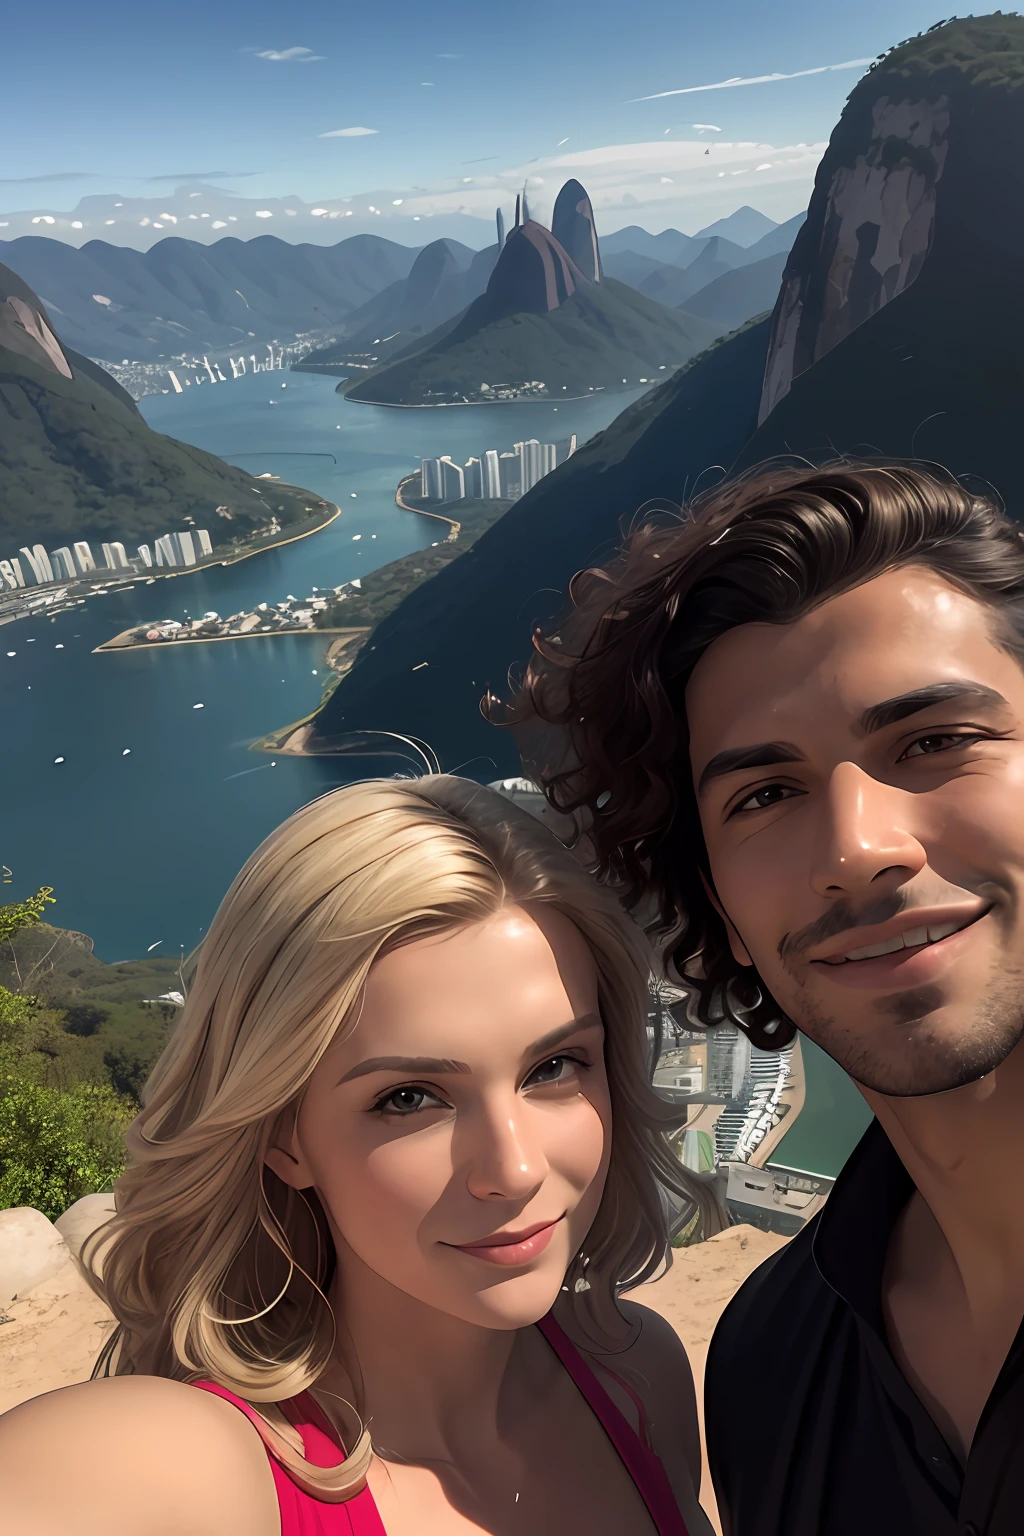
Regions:
<instances>
[{"instance_id":1,"label":"man's dark brown curly hair","mask_svg":"<svg viewBox=\"0 0 1024 1536\"><path fill-rule=\"evenodd\" d=\"M728 1020L761 1049L795 1035L752 968L732 958L703 880L685 691L708 647L740 624L792 624L900 565L924 565L993 610L1024 665L1024 545L1015 524L936 465L769 462L640 524L606 568L580 571L517 696L485 702L527 771L586 836L694 988L691 1018ZM703 877L703 879L702 879Z\"/></svg>"}]
</instances>

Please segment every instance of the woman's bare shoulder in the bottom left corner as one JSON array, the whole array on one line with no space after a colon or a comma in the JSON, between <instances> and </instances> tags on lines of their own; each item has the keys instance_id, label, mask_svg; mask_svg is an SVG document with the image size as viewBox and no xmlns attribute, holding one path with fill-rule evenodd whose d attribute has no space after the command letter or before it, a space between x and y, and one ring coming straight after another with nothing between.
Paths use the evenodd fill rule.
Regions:
<instances>
[{"instance_id":1,"label":"woman's bare shoulder in the bottom left corner","mask_svg":"<svg viewBox=\"0 0 1024 1536\"><path fill-rule=\"evenodd\" d=\"M281 1528L256 1428L223 1398L161 1376L84 1381L11 1409L0 1487L11 1528L34 1536Z\"/></svg>"}]
</instances>

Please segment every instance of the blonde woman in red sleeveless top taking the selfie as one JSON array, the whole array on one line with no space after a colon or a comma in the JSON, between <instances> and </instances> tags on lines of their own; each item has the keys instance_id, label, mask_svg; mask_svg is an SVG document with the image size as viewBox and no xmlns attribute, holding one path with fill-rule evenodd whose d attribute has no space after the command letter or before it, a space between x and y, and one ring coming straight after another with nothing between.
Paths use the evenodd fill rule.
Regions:
<instances>
[{"instance_id":1,"label":"blonde woman in red sleeveless top taking the selfie","mask_svg":"<svg viewBox=\"0 0 1024 1536\"><path fill-rule=\"evenodd\" d=\"M269 837L86 1244L94 1379L0 1421L11 1530L705 1536L676 1333L619 1299L709 1215L649 1086L642 938L468 780ZM614 1126L614 1134L613 1134Z\"/></svg>"}]
</instances>

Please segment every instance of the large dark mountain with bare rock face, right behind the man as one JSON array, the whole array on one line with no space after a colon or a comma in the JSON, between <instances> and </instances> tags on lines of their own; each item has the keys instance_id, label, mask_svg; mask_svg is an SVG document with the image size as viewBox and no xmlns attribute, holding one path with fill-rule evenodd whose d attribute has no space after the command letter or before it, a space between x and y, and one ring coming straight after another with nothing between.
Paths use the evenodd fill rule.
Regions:
<instances>
[{"instance_id":1,"label":"large dark mountain with bare rock face, right behind the man","mask_svg":"<svg viewBox=\"0 0 1024 1536\"><path fill-rule=\"evenodd\" d=\"M679 502L723 465L917 456L1019 515L1024 204L1006 166L1024 154L1022 84L1015 15L943 23L875 63L818 167L771 319L629 406L411 593L321 707L307 750L385 730L428 740L447 770L514 773L511 737L481 719L484 688L507 696L533 624L553 621L574 571L614 553L637 508Z\"/></svg>"}]
</instances>

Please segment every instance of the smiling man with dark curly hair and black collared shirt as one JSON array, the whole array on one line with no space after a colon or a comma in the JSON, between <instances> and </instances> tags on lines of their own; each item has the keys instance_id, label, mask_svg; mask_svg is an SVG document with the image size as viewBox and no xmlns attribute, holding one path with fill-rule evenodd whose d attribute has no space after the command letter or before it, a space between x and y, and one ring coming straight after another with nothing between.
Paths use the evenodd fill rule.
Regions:
<instances>
[{"instance_id":1,"label":"smiling man with dark curly hair and black collared shirt","mask_svg":"<svg viewBox=\"0 0 1024 1536\"><path fill-rule=\"evenodd\" d=\"M729 1536L1024 1531L1024 547L943 473L763 467L537 637L530 754L699 1015L875 1120L715 1332Z\"/></svg>"}]
</instances>

